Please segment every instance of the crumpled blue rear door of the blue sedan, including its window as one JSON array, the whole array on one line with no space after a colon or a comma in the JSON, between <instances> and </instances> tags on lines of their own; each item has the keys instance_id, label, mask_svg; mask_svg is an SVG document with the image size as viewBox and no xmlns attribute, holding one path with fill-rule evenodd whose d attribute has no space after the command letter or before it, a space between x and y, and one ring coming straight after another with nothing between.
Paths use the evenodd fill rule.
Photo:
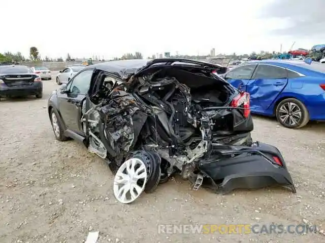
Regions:
<instances>
[{"instance_id":1,"label":"crumpled blue rear door of the blue sedan, including its window","mask_svg":"<svg viewBox=\"0 0 325 243\"><path fill-rule=\"evenodd\" d=\"M287 83L287 70L285 68L258 64L246 89L250 94L251 109L253 111L267 110Z\"/></svg>"}]
</instances>

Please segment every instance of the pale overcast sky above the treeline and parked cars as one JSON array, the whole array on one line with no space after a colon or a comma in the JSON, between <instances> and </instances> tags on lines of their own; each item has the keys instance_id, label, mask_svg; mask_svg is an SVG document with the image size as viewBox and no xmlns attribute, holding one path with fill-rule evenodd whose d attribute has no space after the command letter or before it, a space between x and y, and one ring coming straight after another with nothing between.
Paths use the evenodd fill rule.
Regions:
<instances>
[{"instance_id":1,"label":"pale overcast sky above the treeline and parked cars","mask_svg":"<svg viewBox=\"0 0 325 243\"><path fill-rule=\"evenodd\" d=\"M2 1L0 53L42 58L139 51L207 55L310 49L325 43L325 0Z\"/></svg>"}]
</instances>

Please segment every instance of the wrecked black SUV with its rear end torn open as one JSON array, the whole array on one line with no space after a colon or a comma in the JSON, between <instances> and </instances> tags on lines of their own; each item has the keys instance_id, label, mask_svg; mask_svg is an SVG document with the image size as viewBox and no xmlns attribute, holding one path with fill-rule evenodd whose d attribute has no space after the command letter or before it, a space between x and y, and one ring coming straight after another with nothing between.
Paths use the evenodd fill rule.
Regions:
<instances>
[{"instance_id":1,"label":"wrecked black SUV with its rear end torn open","mask_svg":"<svg viewBox=\"0 0 325 243\"><path fill-rule=\"evenodd\" d=\"M249 94L216 73L216 65L186 59L88 66L49 98L55 137L105 159L122 203L174 173L195 190L280 184L296 192L279 150L251 139Z\"/></svg>"}]
</instances>

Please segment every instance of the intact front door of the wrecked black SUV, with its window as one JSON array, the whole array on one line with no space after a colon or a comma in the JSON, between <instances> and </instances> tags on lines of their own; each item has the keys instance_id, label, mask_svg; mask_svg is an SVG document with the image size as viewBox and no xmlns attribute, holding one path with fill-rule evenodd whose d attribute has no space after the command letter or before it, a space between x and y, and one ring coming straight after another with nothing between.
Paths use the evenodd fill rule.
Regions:
<instances>
[{"instance_id":1,"label":"intact front door of the wrecked black SUV, with its window","mask_svg":"<svg viewBox=\"0 0 325 243\"><path fill-rule=\"evenodd\" d=\"M93 70L87 69L74 76L67 85L68 94L62 94L59 99L59 109L66 127L76 133L83 134L81 119L81 102L89 90Z\"/></svg>"}]
</instances>

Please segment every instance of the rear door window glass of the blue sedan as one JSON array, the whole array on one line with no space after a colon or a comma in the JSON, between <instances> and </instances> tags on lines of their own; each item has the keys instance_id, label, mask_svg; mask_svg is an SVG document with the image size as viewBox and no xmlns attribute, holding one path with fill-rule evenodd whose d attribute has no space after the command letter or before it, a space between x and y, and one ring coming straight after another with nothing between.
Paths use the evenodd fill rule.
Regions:
<instances>
[{"instance_id":1,"label":"rear door window glass of the blue sedan","mask_svg":"<svg viewBox=\"0 0 325 243\"><path fill-rule=\"evenodd\" d=\"M260 64L256 68L253 79L278 79L286 77L287 72L285 68Z\"/></svg>"}]
</instances>

